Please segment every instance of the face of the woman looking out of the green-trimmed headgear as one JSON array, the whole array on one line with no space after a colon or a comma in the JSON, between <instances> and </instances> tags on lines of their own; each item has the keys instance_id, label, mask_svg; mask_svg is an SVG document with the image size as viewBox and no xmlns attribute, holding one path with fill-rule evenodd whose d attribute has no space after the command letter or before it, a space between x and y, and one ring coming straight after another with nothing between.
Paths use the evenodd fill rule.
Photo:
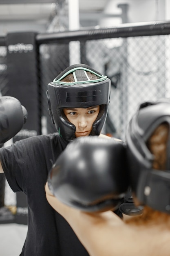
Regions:
<instances>
[{"instance_id":1,"label":"face of the woman looking out of the green-trimmed headgear","mask_svg":"<svg viewBox=\"0 0 170 256\"><path fill-rule=\"evenodd\" d=\"M88 136L94 121L99 114L100 106L90 108L64 108L63 112L68 121L75 125L75 137Z\"/></svg>"}]
</instances>

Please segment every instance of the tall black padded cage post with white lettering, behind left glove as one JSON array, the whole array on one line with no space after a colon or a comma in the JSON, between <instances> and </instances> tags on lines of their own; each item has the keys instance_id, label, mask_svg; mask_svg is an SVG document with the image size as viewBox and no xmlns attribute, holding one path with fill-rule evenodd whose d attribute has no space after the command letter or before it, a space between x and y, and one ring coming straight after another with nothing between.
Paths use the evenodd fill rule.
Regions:
<instances>
[{"instance_id":1,"label":"tall black padded cage post with white lettering, behind left glove","mask_svg":"<svg viewBox=\"0 0 170 256\"><path fill-rule=\"evenodd\" d=\"M28 112L28 119L13 142L41 134L40 88L38 78L38 49L36 33L7 34L7 94L17 98ZM27 223L26 196L17 193L16 222Z\"/></svg>"}]
</instances>

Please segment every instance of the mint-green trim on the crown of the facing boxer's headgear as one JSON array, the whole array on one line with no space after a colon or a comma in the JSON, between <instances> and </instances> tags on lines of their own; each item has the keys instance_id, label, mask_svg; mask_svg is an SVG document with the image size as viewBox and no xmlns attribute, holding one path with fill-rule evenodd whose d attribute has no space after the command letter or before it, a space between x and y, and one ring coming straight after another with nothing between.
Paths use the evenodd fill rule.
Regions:
<instances>
[{"instance_id":1,"label":"mint-green trim on the crown of the facing boxer's headgear","mask_svg":"<svg viewBox=\"0 0 170 256\"><path fill-rule=\"evenodd\" d=\"M99 79L94 79L94 80L89 80L88 76L87 76L87 79L86 81L75 81L75 82L62 82L61 80L64 79L64 77L66 77L68 74L70 73L73 73L73 76L74 76L74 79L75 79L75 70L84 70L84 71L88 71L88 72L91 72L92 74L95 74L96 76L99 77ZM86 74L86 72L85 72ZM68 72L66 72L63 76L60 77L60 79L58 80L53 80L53 83L54 84L62 84L62 85L75 85L75 84L84 84L84 83L96 83L96 82L101 82L101 81L104 81L107 79L107 76L103 76L103 75L100 75L100 74L97 74L96 72L94 72L93 70L90 70L88 68L85 68L85 67L75 67L71 70L69 70ZM77 79L75 79L77 80Z\"/></svg>"}]
</instances>

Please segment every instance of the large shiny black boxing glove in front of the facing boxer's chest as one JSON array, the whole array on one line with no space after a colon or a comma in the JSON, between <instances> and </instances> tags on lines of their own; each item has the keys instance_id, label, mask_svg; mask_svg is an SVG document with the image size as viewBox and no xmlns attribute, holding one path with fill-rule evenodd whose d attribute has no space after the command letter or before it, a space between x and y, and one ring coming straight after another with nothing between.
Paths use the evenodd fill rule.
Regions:
<instances>
[{"instance_id":1,"label":"large shiny black boxing glove in front of the facing boxer's chest","mask_svg":"<svg viewBox=\"0 0 170 256\"><path fill-rule=\"evenodd\" d=\"M89 212L117 209L129 185L123 143L97 136L75 139L53 165L48 185L71 207Z\"/></svg>"}]
</instances>

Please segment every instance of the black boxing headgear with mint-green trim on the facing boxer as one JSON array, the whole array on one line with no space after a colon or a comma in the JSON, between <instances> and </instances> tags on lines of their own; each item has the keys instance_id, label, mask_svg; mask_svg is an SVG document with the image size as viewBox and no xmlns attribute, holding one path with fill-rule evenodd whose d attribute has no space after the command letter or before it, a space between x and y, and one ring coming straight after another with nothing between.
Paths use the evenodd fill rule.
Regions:
<instances>
[{"instance_id":1,"label":"black boxing headgear with mint-green trim on the facing boxer","mask_svg":"<svg viewBox=\"0 0 170 256\"><path fill-rule=\"evenodd\" d=\"M87 72L95 74L98 79L90 80ZM74 82L62 82L68 74L73 73ZM49 112L60 136L71 141L75 138L75 126L66 119L63 108L89 108L100 105L97 119L93 123L91 135L99 135L108 112L110 97L110 79L85 64L67 67L53 82L48 84L47 98Z\"/></svg>"}]
</instances>

